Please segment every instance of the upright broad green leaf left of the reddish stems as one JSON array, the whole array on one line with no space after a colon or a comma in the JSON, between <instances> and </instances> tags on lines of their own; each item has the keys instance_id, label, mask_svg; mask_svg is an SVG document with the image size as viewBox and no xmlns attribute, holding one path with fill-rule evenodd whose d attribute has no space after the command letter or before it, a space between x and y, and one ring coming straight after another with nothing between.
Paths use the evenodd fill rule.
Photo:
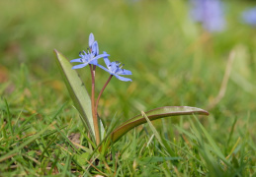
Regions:
<instances>
[{"instance_id":1,"label":"upright broad green leaf left of the reddish stems","mask_svg":"<svg viewBox=\"0 0 256 177\"><path fill-rule=\"evenodd\" d=\"M56 61L64 79L65 85L68 89L69 95L72 98L76 109L80 113L80 117L85 127L88 129L90 135L95 138L91 98L88 94L88 91L77 72L71 69L72 65L69 60L66 59L64 55L59 53L57 50L54 50L54 52L56 54ZM99 122L101 124L100 131L102 137L104 134L104 128L102 122Z\"/></svg>"}]
</instances>

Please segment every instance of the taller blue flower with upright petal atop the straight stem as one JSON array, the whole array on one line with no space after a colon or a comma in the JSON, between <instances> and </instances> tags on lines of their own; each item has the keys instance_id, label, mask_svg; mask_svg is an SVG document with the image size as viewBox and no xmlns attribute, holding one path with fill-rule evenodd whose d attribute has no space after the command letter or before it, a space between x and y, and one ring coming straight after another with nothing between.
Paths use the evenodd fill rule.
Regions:
<instances>
[{"instance_id":1,"label":"taller blue flower with upright petal atop the straight stem","mask_svg":"<svg viewBox=\"0 0 256 177\"><path fill-rule=\"evenodd\" d=\"M85 51L80 52L79 53L80 58L73 59L70 61L71 63L72 62L83 63L83 64L73 66L72 69L83 68L83 67L87 66L88 64L98 65L98 59L110 56L107 53L99 55L98 42L94 40L93 33L90 33L90 36L89 36L89 50L90 51L88 51L88 53L86 53Z\"/></svg>"}]
</instances>

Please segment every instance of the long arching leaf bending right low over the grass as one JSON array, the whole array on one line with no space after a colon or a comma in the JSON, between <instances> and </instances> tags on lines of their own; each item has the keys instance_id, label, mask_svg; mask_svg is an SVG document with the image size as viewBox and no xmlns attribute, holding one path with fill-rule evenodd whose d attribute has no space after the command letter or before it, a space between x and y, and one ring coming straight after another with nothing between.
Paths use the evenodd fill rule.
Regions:
<instances>
[{"instance_id":1,"label":"long arching leaf bending right low over the grass","mask_svg":"<svg viewBox=\"0 0 256 177\"><path fill-rule=\"evenodd\" d=\"M201 114L201 115L209 115L209 113L203 109L196 108L196 107L188 107L188 106L165 106L159 107L156 109L152 109L150 111L145 112L148 119L150 121L156 120L163 117L170 117L170 116L179 116L179 115L193 115L193 114ZM110 142L118 141L122 136L128 133L129 130L133 129L134 127L146 123L146 119L142 115L137 115L127 122L120 125L116 128L111 134L110 139L107 141L107 145Z\"/></svg>"}]
</instances>

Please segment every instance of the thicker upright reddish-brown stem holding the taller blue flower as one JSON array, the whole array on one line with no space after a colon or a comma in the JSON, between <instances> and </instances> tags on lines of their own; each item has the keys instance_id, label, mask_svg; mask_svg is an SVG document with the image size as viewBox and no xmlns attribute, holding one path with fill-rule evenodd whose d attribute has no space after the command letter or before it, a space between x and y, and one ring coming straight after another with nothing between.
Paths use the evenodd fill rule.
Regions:
<instances>
[{"instance_id":1,"label":"thicker upright reddish-brown stem holding the taller blue flower","mask_svg":"<svg viewBox=\"0 0 256 177\"><path fill-rule=\"evenodd\" d=\"M96 139L96 145L98 146L101 142L100 138L100 131L99 131L99 123L98 123L98 117L97 117L97 111L95 109L95 69L96 66L89 65L92 75L92 114L93 114L93 125L94 125L94 131L95 131L95 139Z\"/></svg>"}]
</instances>

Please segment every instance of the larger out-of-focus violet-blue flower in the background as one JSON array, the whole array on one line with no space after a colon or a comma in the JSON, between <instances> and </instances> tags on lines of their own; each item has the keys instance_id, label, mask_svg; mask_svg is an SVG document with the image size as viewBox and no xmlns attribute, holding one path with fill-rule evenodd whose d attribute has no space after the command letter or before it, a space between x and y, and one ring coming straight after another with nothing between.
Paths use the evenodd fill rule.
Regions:
<instances>
[{"instance_id":1,"label":"larger out-of-focus violet-blue flower in the background","mask_svg":"<svg viewBox=\"0 0 256 177\"><path fill-rule=\"evenodd\" d=\"M195 22L202 23L210 32L225 28L225 20L220 0L191 0L191 17Z\"/></svg>"}]
</instances>

